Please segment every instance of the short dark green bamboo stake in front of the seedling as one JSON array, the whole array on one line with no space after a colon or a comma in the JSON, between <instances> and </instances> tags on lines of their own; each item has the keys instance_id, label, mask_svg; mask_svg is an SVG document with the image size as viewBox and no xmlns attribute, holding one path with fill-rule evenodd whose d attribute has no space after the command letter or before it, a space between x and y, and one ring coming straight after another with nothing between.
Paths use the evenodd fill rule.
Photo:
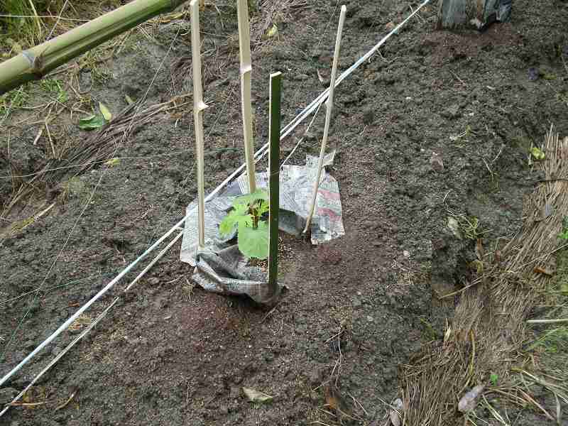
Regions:
<instances>
[{"instance_id":1,"label":"short dark green bamboo stake in front of the seedling","mask_svg":"<svg viewBox=\"0 0 568 426\"><path fill-rule=\"evenodd\" d=\"M282 94L282 72L271 74L270 151L268 154L268 286L271 294L278 289L278 213L280 211L280 99Z\"/></svg>"}]
</instances>

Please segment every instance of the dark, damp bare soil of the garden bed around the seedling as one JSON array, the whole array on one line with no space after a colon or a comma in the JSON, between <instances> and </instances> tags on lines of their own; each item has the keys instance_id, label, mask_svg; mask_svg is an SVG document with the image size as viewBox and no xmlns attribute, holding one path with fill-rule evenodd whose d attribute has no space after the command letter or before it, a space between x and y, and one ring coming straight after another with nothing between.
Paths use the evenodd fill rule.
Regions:
<instances>
[{"instance_id":1,"label":"dark, damp bare soil of the garden bed around the seedling","mask_svg":"<svg viewBox=\"0 0 568 426\"><path fill-rule=\"evenodd\" d=\"M207 6L201 15L208 190L243 161L236 13L216 3L221 14ZM288 123L324 89L316 70L329 73L339 15L334 1L276 3L253 12L258 147L268 134L269 73L285 73ZM342 70L387 33L387 23L417 6L345 4ZM432 31L432 6L342 83L330 136L339 154L329 171L339 181L346 236L317 247L284 240L281 280L290 291L274 310L193 288L178 243L26 400L47 403L12 408L3 424L332 425L339 420L325 413L329 379L351 417L382 421L384 402L398 392L398 365L451 321L454 300L442 303L437 295L459 289L473 273L475 241L452 234L449 214L477 217L477 232L492 250L490 242L519 229L523 195L540 178L528 165L530 143L540 145L551 123L568 134L568 70L559 56L568 45L566 3L520 0L514 7L512 23L479 34ZM261 34L272 21L278 36L266 40ZM178 28L182 35L168 53ZM153 39L139 38L102 65L112 75L106 80L80 72L81 86L92 85L92 99L116 113L126 107L125 94L143 97L163 61L148 103L191 92L187 28L187 21L162 24ZM540 79L529 80L530 67ZM315 138L302 142L293 162L319 151L323 117L320 111ZM45 164L49 143L42 137L33 145L36 120L18 111L5 121L2 176L10 165L25 175ZM55 143L85 138L76 121L54 124L61 135ZM301 135L298 129L285 141L283 158ZM65 182L48 182L4 217L1 226L9 226L56 202L0 243L0 301L40 289L0 305L2 375L182 217L196 196L191 104L120 142L116 157L118 165L97 165L65 193L50 192ZM0 185L8 200L11 180ZM0 389L0 402L25 387L127 283ZM274 400L249 403L243 386Z\"/></svg>"}]
</instances>

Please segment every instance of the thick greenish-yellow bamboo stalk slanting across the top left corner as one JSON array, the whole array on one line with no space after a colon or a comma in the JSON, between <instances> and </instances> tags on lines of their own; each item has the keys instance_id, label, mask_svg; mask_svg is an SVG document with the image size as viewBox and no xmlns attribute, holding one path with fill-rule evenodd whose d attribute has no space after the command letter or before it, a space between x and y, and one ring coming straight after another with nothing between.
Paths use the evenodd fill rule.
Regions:
<instances>
[{"instance_id":1,"label":"thick greenish-yellow bamboo stalk slanting across the top left corner","mask_svg":"<svg viewBox=\"0 0 568 426\"><path fill-rule=\"evenodd\" d=\"M134 0L0 63L0 94L39 80L56 67L186 0Z\"/></svg>"}]
</instances>

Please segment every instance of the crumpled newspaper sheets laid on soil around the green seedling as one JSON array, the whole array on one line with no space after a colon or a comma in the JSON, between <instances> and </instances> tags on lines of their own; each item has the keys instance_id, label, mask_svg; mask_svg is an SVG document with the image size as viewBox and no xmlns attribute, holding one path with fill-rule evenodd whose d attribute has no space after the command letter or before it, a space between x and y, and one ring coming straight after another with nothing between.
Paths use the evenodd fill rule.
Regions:
<instances>
[{"instance_id":1,"label":"crumpled newspaper sheets laid on soil around the green seedling","mask_svg":"<svg viewBox=\"0 0 568 426\"><path fill-rule=\"evenodd\" d=\"M324 166L332 165L335 151L324 158ZM307 155L305 165L283 165L280 169L280 219L278 227L300 236L306 224L317 175L318 158ZM268 188L268 173L256 173L256 186ZM271 302L277 295L268 294L266 272L246 265L234 242L234 236L222 239L219 224L229 212L236 197L248 192L246 175L239 176L216 197L205 202L205 250L197 255L197 200L187 206L180 260L195 266L192 278L205 290L231 295L249 295L261 303ZM339 238L345 234L339 185L332 175L322 172L311 224L312 244ZM278 288L277 293L280 293Z\"/></svg>"}]
</instances>

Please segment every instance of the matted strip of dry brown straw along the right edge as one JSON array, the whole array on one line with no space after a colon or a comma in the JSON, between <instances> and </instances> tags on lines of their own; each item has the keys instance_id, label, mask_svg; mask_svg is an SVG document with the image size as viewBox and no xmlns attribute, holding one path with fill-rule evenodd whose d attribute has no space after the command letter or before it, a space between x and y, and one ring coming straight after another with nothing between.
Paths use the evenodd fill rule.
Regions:
<instances>
[{"instance_id":1,"label":"matted strip of dry brown straw along the right edge","mask_svg":"<svg viewBox=\"0 0 568 426\"><path fill-rule=\"evenodd\" d=\"M457 404L479 384L486 386L484 396L498 395L549 420L557 421L562 403L568 403L562 386L565 372L547 378L542 371L531 373L529 369L538 370L537 363L522 354L528 339L526 320L545 298L555 253L567 244L559 244L557 236L568 212L568 138L562 141L551 129L544 146L547 158L536 167L545 171L545 179L525 200L523 229L501 250L503 260L486 264L476 285L457 295L454 321L444 341L430 344L403 366L404 425L474 424L474 413L462 416ZM488 256L484 263L489 263ZM491 373L500 378L500 387L491 383ZM557 413L532 396L532 386L544 387L555 398ZM493 406L486 408L494 420L509 424Z\"/></svg>"}]
</instances>

